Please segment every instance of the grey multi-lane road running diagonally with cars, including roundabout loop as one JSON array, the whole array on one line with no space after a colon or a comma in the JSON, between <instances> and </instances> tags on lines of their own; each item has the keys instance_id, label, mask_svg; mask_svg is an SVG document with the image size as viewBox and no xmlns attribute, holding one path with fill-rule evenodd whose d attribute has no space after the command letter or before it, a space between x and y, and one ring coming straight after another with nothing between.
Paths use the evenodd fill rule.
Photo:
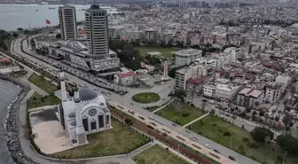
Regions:
<instances>
[{"instance_id":1,"label":"grey multi-lane road running diagonally with cars, including roundabout loop","mask_svg":"<svg viewBox=\"0 0 298 164\"><path fill-rule=\"evenodd\" d=\"M33 55L27 55L26 53L23 53L21 51L21 46L20 46L21 40L22 40L22 38L16 40L13 43L13 50L15 51L15 53L17 55L20 55L24 59L27 59L27 61L29 61L29 62L31 61L31 63L35 64L36 66L41 66L43 69L45 69L48 72L52 73L52 71L56 71L56 72L59 71L59 68L57 68L55 66L51 66L51 64L50 64L51 62L44 62L41 59L36 59ZM28 47L28 46L25 45L24 47ZM52 62L56 62L56 61L52 61ZM69 68L69 70L71 70L71 69L73 71L75 70L75 68ZM75 70L75 71L78 71L78 70ZM83 81L81 78L78 78L73 74L66 73L66 77L70 82L75 82L77 84L85 85L92 89L98 90L99 93L102 93L102 91L108 91L108 90L102 89L98 86L95 86L95 85L91 84L90 82ZM161 99L156 105L162 105L169 101L168 95L169 95L169 91L171 90L171 84L172 84L172 82L169 82L165 85L156 85L153 87L153 89L150 89L150 91L159 92L161 97L165 98L164 100ZM256 162L255 160L251 160L251 159L247 158L246 156L239 154L238 152L231 151L230 149L224 147L223 145L217 144L216 142L213 142L206 137L201 137L200 135L198 135L194 132L188 133L181 126L178 126L178 125L173 126L173 122L168 121L168 120L160 117L159 115L156 115L154 113L146 111L142 105L139 105L137 103L132 103L133 101L131 99L131 95L134 95L138 92L144 92L147 90L146 89L129 89L129 93L123 97L118 94L111 93L111 95L109 97L106 97L106 99L108 102L113 101L113 102L118 102L122 105L125 105L129 109L134 110L135 112L140 113L140 114L144 115L145 117L153 116L155 119L157 119L159 121L163 121L165 127L175 131L177 134L179 134L185 138L198 136L199 140L195 141L195 142L197 142L198 144L203 144L203 145L204 144L211 145L212 149L217 149L221 152L221 154L225 157L224 159L227 159L227 157L231 155L236 159L236 162L238 162L240 164L258 164L258 162ZM228 161L231 161L231 160L228 160Z\"/></svg>"}]
</instances>

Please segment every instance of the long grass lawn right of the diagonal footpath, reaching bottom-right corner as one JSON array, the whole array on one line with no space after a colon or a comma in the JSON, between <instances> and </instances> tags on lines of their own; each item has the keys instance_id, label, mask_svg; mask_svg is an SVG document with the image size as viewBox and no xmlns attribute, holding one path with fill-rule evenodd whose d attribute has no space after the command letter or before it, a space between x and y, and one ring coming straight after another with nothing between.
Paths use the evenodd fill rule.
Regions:
<instances>
[{"instance_id":1,"label":"long grass lawn right of the diagonal footpath, reaching bottom-right corner","mask_svg":"<svg viewBox=\"0 0 298 164\"><path fill-rule=\"evenodd\" d=\"M254 141L247 130L240 129L239 127L215 116L208 115L207 117L204 117L200 121L193 123L191 129L201 136L208 137L216 143L230 148L231 137L223 136L224 131L229 131L232 134L231 149L259 162L266 161L268 164L273 164L276 163L278 156L283 157L283 152L277 144L268 144L267 149L265 144L256 144L256 148L252 147L250 145L254 143ZM248 141L245 141L243 138L247 138ZM242 152L239 150L241 149L240 147L242 147L241 145L243 146ZM265 155L266 152L267 155ZM287 156L286 159L285 164L298 163L298 158Z\"/></svg>"}]
</instances>

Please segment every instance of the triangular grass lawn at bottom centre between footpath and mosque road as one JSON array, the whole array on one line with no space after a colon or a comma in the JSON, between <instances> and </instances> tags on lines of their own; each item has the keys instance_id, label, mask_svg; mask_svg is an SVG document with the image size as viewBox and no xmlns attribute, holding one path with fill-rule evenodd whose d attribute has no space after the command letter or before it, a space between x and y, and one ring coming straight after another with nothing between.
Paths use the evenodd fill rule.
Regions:
<instances>
[{"instance_id":1,"label":"triangular grass lawn at bottom centre between footpath and mosque road","mask_svg":"<svg viewBox=\"0 0 298 164\"><path fill-rule=\"evenodd\" d=\"M176 154L167 151L158 144L138 153L133 160L137 164L188 164L187 161L179 159Z\"/></svg>"}]
</instances>

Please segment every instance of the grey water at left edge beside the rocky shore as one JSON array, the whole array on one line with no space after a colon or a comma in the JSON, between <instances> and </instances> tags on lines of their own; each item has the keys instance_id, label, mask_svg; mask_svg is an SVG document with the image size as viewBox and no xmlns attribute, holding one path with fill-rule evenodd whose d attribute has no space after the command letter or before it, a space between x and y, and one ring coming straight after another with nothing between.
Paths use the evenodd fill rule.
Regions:
<instances>
[{"instance_id":1,"label":"grey water at left edge beside the rocky shore","mask_svg":"<svg viewBox=\"0 0 298 164\"><path fill-rule=\"evenodd\" d=\"M13 164L11 154L6 147L5 122L8 113L8 107L17 98L20 88L12 82L0 79L0 163Z\"/></svg>"}]
</instances>

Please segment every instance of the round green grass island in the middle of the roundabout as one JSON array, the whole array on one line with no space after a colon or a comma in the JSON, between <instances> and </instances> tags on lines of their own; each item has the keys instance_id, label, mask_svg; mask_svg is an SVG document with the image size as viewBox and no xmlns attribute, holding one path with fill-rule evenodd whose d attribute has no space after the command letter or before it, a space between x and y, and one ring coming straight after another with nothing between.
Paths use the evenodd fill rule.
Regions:
<instances>
[{"instance_id":1,"label":"round green grass island in the middle of the roundabout","mask_svg":"<svg viewBox=\"0 0 298 164\"><path fill-rule=\"evenodd\" d=\"M148 104L159 101L161 97L157 93L144 92L134 95L132 99L137 103Z\"/></svg>"}]
</instances>

